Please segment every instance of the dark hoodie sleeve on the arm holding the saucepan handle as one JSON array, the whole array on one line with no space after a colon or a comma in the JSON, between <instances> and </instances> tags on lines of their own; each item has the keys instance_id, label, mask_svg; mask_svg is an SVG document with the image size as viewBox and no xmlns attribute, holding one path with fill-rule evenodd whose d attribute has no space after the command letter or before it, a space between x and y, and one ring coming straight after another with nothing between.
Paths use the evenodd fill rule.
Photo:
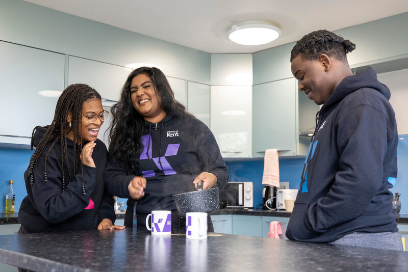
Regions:
<instances>
[{"instance_id":1,"label":"dark hoodie sleeve on the arm holding the saucepan handle","mask_svg":"<svg viewBox=\"0 0 408 272\"><path fill-rule=\"evenodd\" d=\"M211 130L201 123L201 131L197 141L197 158L200 162L201 171L209 172L217 177L217 185L220 189L228 182L228 169L221 156L220 149Z\"/></svg>"}]
</instances>

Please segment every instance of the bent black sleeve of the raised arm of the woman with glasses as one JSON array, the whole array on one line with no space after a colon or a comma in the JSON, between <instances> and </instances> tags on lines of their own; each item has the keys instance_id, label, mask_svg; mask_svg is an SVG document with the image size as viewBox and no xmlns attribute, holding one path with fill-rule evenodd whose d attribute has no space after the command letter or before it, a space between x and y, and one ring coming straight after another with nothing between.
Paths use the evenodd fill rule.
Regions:
<instances>
[{"instance_id":1,"label":"bent black sleeve of the raised arm of the woman with glasses","mask_svg":"<svg viewBox=\"0 0 408 272\"><path fill-rule=\"evenodd\" d=\"M34 171L33 200L38 212L46 221L58 224L80 213L88 206L89 198L95 187L96 168L83 165L83 174L82 171L79 171L74 180L62 189L60 163L51 155L48 158L46 182L44 172ZM82 192L83 180L86 195Z\"/></svg>"}]
</instances>

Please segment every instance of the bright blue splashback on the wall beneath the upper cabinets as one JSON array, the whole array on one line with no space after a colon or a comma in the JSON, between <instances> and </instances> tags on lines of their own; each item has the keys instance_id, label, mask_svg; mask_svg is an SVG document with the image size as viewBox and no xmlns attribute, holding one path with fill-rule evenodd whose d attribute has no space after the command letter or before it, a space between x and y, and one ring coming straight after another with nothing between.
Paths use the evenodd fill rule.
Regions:
<instances>
[{"instance_id":1,"label":"bright blue splashback on the wall beneath the upper cabinets","mask_svg":"<svg viewBox=\"0 0 408 272\"><path fill-rule=\"evenodd\" d=\"M401 213L408 214L408 134L399 135L398 143L398 176L393 194L401 194ZM0 148L0 212L5 209L4 192L9 179L14 180L16 194L16 210L19 209L22 199L27 195L23 173L34 151L16 148ZM291 189L298 189L302 174L304 158L279 159L279 174L281 181L289 181ZM262 174L264 171L263 160L227 161L226 166L230 172L230 181L252 181L254 190L254 206L262 204ZM124 201L126 199L119 199ZM126 207L126 205L125 205Z\"/></svg>"}]
</instances>

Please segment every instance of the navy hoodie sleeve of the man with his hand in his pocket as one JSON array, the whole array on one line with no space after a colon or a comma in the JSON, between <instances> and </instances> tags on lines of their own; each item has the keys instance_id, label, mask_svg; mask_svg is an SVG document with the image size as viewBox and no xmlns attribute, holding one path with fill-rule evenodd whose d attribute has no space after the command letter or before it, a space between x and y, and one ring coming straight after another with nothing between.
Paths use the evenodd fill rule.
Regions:
<instances>
[{"instance_id":1,"label":"navy hoodie sleeve of the man with his hand in his pocket","mask_svg":"<svg viewBox=\"0 0 408 272\"><path fill-rule=\"evenodd\" d=\"M362 214L383 179L389 133L386 115L361 104L345 108L339 116L336 179L328 194L311 204L304 217L306 225L319 233Z\"/></svg>"}]
</instances>

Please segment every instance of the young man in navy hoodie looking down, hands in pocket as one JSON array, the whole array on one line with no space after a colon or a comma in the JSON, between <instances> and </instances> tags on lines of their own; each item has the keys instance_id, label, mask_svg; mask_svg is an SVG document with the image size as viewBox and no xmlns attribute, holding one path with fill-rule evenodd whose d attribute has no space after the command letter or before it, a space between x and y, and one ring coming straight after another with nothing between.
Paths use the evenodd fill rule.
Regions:
<instances>
[{"instance_id":1,"label":"young man in navy hoodie looking down, hands in pocket","mask_svg":"<svg viewBox=\"0 0 408 272\"><path fill-rule=\"evenodd\" d=\"M322 105L286 235L289 239L402 250L392 211L397 125L390 90L372 68L353 75L355 44L326 30L292 49L299 91Z\"/></svg>"}]
</instances>

